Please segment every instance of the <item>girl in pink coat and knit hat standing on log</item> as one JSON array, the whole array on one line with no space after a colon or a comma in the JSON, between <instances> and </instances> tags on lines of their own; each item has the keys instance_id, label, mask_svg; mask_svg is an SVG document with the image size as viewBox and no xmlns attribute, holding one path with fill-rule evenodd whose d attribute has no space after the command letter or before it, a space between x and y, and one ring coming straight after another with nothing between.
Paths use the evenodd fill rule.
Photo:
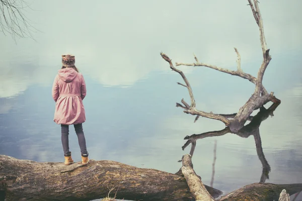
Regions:
<instances>
[{"instance_id":1,"label":"girl in pink coat and knit hat standing on log","mask_svg":"<svg viewBox=\"0 0 302 201\"><path fill-rule=\"evenodd\" d=\"M62 55L62 68L54 78L52 97L55 104L54 122L61 125L61 140L65 157L65 165L73 163L69 151L69 125L74 126L81 148L82 163L87 164L88 152L82 123L86 121L82 100L86 96L86 84L82 73L74 66L72 55Z\"/></svg>"}]
</instances>

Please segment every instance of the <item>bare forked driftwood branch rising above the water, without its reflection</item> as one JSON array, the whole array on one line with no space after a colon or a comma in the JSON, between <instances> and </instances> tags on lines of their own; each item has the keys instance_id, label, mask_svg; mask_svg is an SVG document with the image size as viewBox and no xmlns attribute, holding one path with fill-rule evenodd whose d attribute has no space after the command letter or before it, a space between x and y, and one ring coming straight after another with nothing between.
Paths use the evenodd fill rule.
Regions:
<instances>
[{"instance_id":1,"label":"bare forked driftwood branch rising above the water, without its reflection","mask_svg":"<svg viewBox=\"0 0 302 201\"><path fill-rule=\"evenodd\" d=\"M251 74L243 72L242 67L241 67L241 56L240 56L237 48L235 48L235 52L237 53L237 57L238 57L236 71L221 68L221 67L211 65L211 64L199 62L199 60L197 59L197 57L195 55L194 55L194 58L196 61L195 63L176 62L176 66L185 65L185 66L209 67L209 68L218 70L220 72L224 72L224 73L228 73L231 75L240 76L244 79L248 79L249 81L251 81L252 83L254 83L256 85L255 91L252 94L252 96L248 99L246 104L240 108L239 112L237 114L235 114L234 117L232 117L232 119L230 119L228 116L213 114L212 112L207 113L207 112L197 110L194 95L193 95L193 90L192 90L192 87L191 87L188 79L186 78L185 74L173 65L172 60L166 54L161 53L161 56L163 57L163 59L166 60L167 62L169 62L170 68L173 71L178 72L182 76L183 80L185 81L185 84L182 84L179 82L178 82L178 84L186 87L188 89L188 92L190 95L191 105L189 105L188 103L185 102L184 99L182 99L181 103L183 105L177 103L176 107L180 107L180 108L184 109L184 113L186 113L186 114L191 114L194 116L196 115L194 122L196 122L198 120L199 116L219 120L219 121L223 122L225 124L225 126L229 127L229 129L232 133L237 133L240 131L240 129L242 129L244 127L244 124L249 119L250 115L252 114L252 112L254 110L259 109L261 106L265 105L268 102L280 103L280 100L277 99L273 95L273 92L268 93L262 84L263 75L271 60L271 56L269 55L269 49L267 48L265 37L264 37L264 28L263 28L263 22L262 22L262 18L261 18L260 9L258 6L258 1L257 0L253 0L253 1L254 1L254 3L252 3L252 0L248 0L249 6L251 7L252 13L253 13L256 23L259 27L260 42L261 42L262 55L263 55L263 61L259 68L257 78L252 76Z\"/></svg>"}]
</instances>

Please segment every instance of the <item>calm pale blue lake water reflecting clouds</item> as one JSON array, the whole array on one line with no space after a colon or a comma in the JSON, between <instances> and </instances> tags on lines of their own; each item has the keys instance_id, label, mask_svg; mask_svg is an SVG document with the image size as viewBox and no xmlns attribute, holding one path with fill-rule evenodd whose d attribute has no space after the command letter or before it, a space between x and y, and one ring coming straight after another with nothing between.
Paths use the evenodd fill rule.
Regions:
<instances>
[{"instance_id":1,"label":"calm pale blue lake water reflecting clouds","mask_svg":"<svg viewBox=\"0 0 302 201\"><path fill-rule=\"evenodd\" d=\"M183 80L160 52L188 63L194 61L194 52L202 62L236 69L237 47L243 70L256 75L262 61L259 31L246 3L94 1L92 6L34 1L34 11L27 16L42 31L33 34L37 42L17 39L16 44L0 35L0 154L63 161L51 87L61 54L71 53L87 84L83 127L90 158L177 172L178 160L191 148L182 150L184 137L222 130L224 125L206 118L194 124L193 116L175 107L182 98L189 102L188 92L176 84ZM270 166L265 182L276 184L302 182L301 4L270 0L260 5L272 55L263 83L281 99L274 117L259 128L261 156ZM180 69L199 110L237 113L254 91L254 85L240 77L205 67ZM70 151L79 161L77 137L72 127L69 130ZM225 134L196 141L192 160L205 184L211 180L215 140L213 187L229 192L260 181L262 163L254 137Z\"/></svg>"}]
</instances>

